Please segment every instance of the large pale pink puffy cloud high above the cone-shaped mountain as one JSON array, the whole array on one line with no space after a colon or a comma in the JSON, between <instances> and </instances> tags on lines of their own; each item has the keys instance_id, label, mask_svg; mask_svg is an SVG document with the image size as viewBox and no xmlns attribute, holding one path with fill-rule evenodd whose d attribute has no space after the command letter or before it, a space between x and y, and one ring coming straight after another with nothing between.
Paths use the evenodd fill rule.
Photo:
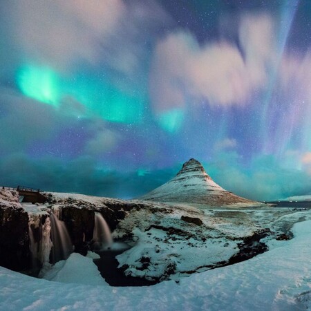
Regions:
<instances>
[{"instance_id":1,"label":"large pale pink puffy cloud high above the cone-shaped mountain","mask_svg":"<svg viewBox=\"0 0 311 311\"><path fill-rule=\"evenodd\" d=\"M275 58L274 27L268 15L241 18L241 49L227 41L200 46L180 30L158 42L150 75L150 97L156 113L185 107L243 105L267 83Z\"/></svg>"}]
</instances>

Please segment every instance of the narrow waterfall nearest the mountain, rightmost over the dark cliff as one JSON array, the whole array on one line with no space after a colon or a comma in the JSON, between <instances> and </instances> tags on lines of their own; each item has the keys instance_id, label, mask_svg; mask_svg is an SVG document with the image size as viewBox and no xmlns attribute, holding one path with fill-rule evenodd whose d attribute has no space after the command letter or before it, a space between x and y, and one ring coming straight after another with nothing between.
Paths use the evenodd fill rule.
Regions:
<instances>
[{"instance_id":1,"label":"narrow waterfall nearest the mountain, rightmost over the dark cliff","mask_svg":"<svg viewBox=\"0 0 311 311\"><path fill-rule=\"evenodd\" d=\"M103 249L110 247L113 243L111 231L106 220L99 212L95 211L95 224L93 232L93 248Z\"/></svg>"}]
</instances>

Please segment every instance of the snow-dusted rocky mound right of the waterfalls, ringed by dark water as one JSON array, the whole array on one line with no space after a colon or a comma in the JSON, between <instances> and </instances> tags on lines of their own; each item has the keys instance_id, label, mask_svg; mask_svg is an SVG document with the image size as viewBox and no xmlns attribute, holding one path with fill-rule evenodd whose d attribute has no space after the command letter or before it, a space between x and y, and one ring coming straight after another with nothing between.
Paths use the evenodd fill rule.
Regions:
<instances>
[{"instance_id":1,"label":"snow-dusted rocky mound right of the waterfalls, ringed by dark water","mask_svg":"<svg viewBox=\"0 0 311 311\"><path fill-rule=\"evenodd\" d=\"M250 221L240 227L241 232L236 221L211 217L194 207L154 203L152 209L133 209L120 221L113 237L131 238L132 247L116 258L126 275L149 281L176 279L228 263L240 252L243 238L259 230Z\"/></svg>"}]
</instances>

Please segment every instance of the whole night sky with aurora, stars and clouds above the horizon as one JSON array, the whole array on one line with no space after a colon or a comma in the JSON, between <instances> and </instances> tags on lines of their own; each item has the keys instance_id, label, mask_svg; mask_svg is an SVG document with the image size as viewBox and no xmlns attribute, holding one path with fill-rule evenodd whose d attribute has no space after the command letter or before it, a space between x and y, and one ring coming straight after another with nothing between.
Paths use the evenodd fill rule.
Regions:
<instances>
[{"instance_id":1,"label":"whole night sky with aurora, stars and clouds above the horizon","mask_svg":"<svg viewBox=\"0 0 311 311\"><path fill-rule=\"evenodd\" d=\"M0 2L0 185L131 198L196 158L311 193L311 1Z\"/></svg>"}]
</instances>

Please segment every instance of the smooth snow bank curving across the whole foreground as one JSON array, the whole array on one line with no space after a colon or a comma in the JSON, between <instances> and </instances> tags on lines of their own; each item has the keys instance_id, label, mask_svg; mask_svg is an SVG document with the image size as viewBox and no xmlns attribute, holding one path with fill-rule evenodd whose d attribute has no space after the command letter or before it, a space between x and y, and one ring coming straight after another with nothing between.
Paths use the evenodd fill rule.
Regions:
<instances>
[{"instance_id":1,"label":"smooth snow bank curving across the whole foreground","mask_svg":"<svg viewBox=\"0 0 311 311\"><path fill-rule=\"evenodd\" d=\"M292 240L274 243L269 252L178 284L58 283L0 267L0 310L305 310L311 308L311 220L297 223L293 232Z\"/></svg>"}]
</instances>

